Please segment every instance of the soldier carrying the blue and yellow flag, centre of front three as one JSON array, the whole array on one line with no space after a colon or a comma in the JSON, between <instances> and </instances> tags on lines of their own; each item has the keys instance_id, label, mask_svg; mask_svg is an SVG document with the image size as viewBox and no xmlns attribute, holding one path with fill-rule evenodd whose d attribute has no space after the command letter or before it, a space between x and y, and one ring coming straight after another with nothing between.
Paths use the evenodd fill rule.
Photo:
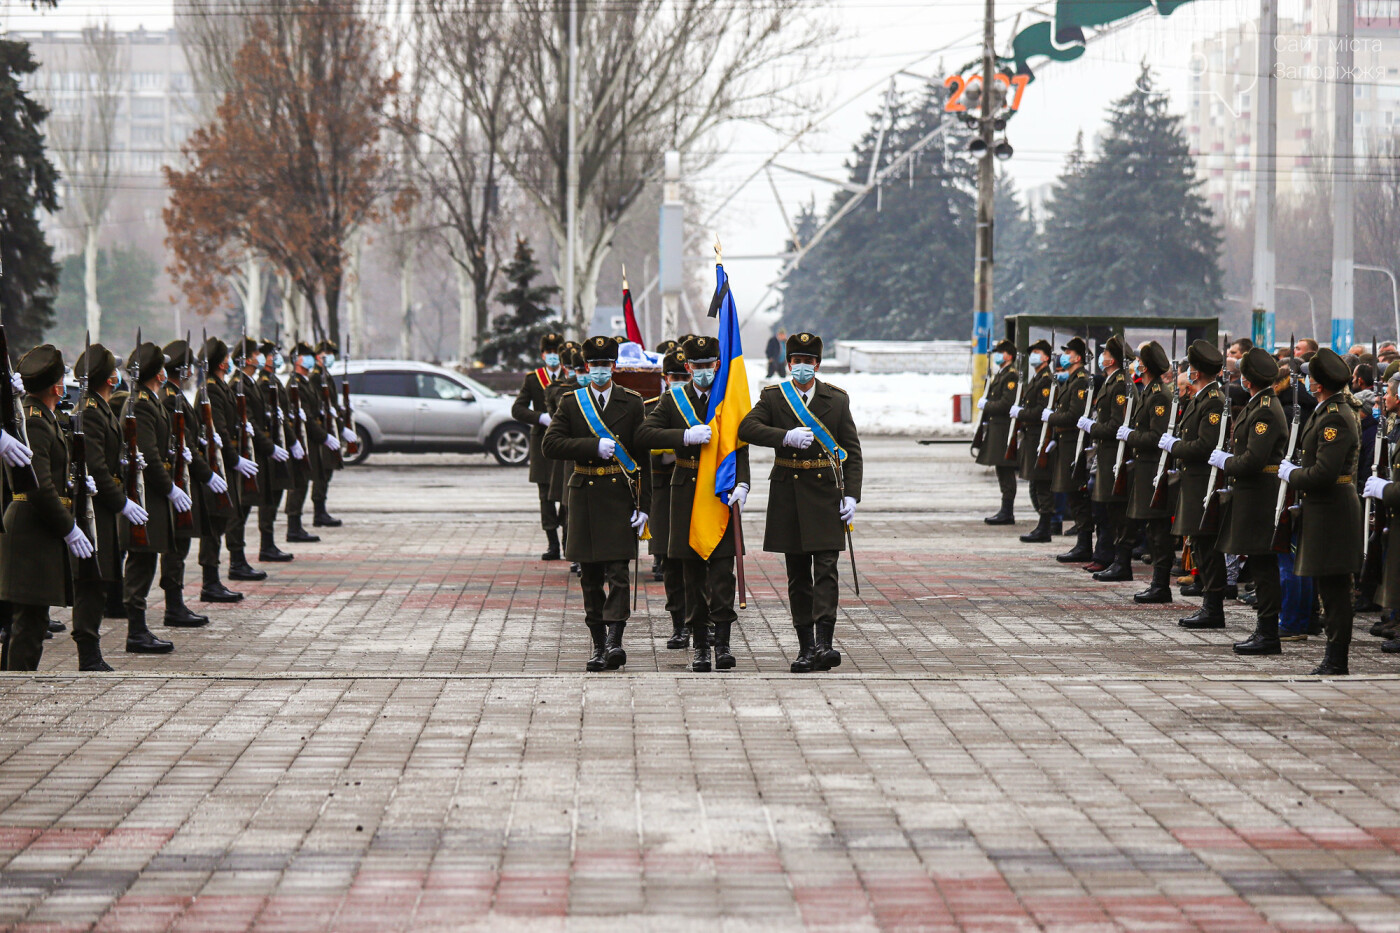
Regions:
<instances>
[{"instance_id":1,"label":"soldier carrying the blue and yellow flag, centre of front three","mask_svg":"<svg viewBox=\"0 0 1400 933\"><path fill-rule=\"evenodd\" d=\"M685 367L690 382L680 389L682 398L666 392L647 415L645 427L638 441L645 450L673 450L675 469L671 475L669 520L666 531L666 559L679 560L685 580L686 628L690 629L694 657L690 670L710 671L710 630L714 630L714 667L728 671L734 667L729 651L729 635L738 614L734 611L735 549L734 521L724 530L724 537L708 558L703 558L690 546L690 513L696 496L713 496L713 489L699 489L700 454L706 444L713 443L708 424L710 392L720 366L720 340L713 336L694 336L682 346ZM682 409L685 406L685 410ZM692 424L687 412L694 415ZM743 503L749 496L749 448L741 445L735 451L735 488L729 500ZM728 503L725 503L728 504ZM655 510L652 510L655 511Z\"/></svg>"}]
</instances>

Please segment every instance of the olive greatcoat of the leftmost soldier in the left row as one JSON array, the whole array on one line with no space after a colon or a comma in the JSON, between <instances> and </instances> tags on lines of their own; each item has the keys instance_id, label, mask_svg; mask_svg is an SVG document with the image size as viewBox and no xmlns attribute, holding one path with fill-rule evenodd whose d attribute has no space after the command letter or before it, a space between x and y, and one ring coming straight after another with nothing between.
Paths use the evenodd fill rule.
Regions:
<instances>
[{"instance_id":1,"label":"olive greatcoat of the leftmost soldier in the left row","mask_svg":"<svg viewBox=\"0 0 1400 933\"><path fill-rule=\"evenodd\" d=\"M60 497L69 493L69 444L57 417L32 395L24 398L25 430L39 488L24 502L13 499L0 535L0 600L22 605L71 605L69 546L73 514ZM14 489L13 471L4 468Z\"/></svg>"}]
</instances>

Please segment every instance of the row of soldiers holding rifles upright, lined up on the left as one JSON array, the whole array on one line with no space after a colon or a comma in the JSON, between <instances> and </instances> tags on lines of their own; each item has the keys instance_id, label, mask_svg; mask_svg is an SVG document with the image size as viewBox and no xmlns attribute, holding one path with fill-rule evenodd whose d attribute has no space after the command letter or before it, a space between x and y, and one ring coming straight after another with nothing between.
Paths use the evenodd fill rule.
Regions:
<instances>
[{"instance_id":1,"label":"row of soldiers holding rifles upright, lined up on the left","mask_svg":"<svg viewBox=\"0 0 1400 933\"><path fill-rule=\"evenodd\" d=\"M272 340L218 338L192 346L141 342L125 359L88 343L69 367L50 345L11 368L0 328L0 458L4 528L0 534L0 625L7 671L39 667L45 639L62 632L50 607L73 607L80 671L111 671L98 640L102 619L126 621L126 650L168 654L171 639L147 621L160 580L165 629L199 628L207 615L185 604L185 562L199 539L200 602L238 602L228 577L258 581L244 528L258 509L259 563L293 559L274 539L287 496L287 542L314 544L302 524L340 525L326 511L342 447L356 445L349 392L332 374L337 347L298 342L286 382ZM193 401L192 401L193 399Z\"/></svg>"}]
</instances>

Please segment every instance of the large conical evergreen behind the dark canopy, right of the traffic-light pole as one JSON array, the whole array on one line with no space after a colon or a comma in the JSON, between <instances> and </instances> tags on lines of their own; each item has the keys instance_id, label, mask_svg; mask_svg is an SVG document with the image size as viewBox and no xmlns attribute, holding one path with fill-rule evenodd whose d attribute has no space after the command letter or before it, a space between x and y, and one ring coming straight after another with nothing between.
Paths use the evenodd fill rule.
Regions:
<instances>
[{"instance_id":1,"label":"large conical evergreen behind the dark canopy, right of the traffic-light pole","mask_svg":"<svg viewBox=\"0 0 1400 933\"><path fill-rule=\"evenodd\" d=\"M1212 315L1221 234L1200 195L1182 118L1144 66L1109 109L1099 156L1082 140L1044 228L1044 298L1061 314Z\"/></svg>"}]
</instances>

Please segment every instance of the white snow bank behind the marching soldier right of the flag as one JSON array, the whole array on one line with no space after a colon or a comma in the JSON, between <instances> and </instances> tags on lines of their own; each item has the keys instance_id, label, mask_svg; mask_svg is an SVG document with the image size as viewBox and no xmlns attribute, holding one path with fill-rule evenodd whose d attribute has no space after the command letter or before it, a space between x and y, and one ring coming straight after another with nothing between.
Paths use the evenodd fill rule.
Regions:
<instances>
[{"instance_id":1,"label":"white snow bank behind the marching soldier right of the flag","mask_svg":"<svg viewBox=\"0 0 1400 933\"><path fill-rule=\"evenodd\" d=\"M749 368L752 398L776 380ZM822 377L819 377L822 378ZM827 380L851 396L851 415L861 434L972 437L974 424L953 424L953 395L970 391L966 375L924 373L833 373Z\"/></svg>"}]
</instances>

